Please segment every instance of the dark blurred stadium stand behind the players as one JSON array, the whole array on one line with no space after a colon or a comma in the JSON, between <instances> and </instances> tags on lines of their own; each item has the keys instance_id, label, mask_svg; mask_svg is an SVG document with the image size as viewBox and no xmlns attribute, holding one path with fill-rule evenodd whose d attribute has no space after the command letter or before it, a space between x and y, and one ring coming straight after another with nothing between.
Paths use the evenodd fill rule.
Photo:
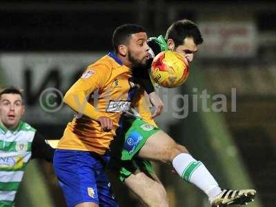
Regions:
<instances>
[{"instance_id":1,"label":"dark blurred stadium stand behind the players","mask_svg":"<svg viewBox=\"0 0 276 207\"><path fill-rule=\"evenodd\" d=\"M24 120L48 139L59 139L72 112L58 108L58 93L48 104L39 101L43 91L66 92L88 63L111 50L112 31L122 23L139 23L149 36L157 36L184 18L199 25L204 45L184 86L159 89L166 108L157 123L203 161L221 187L257 188L250 206L276 206L272 1L1 1L0 85L23 88ZM211 94L208 106L217 100L213 95L225 95L226 110L203 112L199 95L205 89ZM188 111L179 96L184 94ZM193 97L198 97L198 112L193 112ZM203 193L173 175L170 166L155 167L171 207L209 206ZM113 187L121 206L142 206L124 186ZM65 206L50 164L32 161L28 166L17 206Z\"/></svg>"}]
</instances>

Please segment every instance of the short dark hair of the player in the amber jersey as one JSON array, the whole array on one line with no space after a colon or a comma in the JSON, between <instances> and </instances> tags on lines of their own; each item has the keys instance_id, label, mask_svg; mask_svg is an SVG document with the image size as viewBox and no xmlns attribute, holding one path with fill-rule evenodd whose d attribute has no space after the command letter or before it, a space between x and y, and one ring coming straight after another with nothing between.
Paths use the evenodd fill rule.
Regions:
<instances>
[{"instance_id":1,"label":"short dark hair of the player in the amber jersey","mask_svg":"<svg viewBox=\"0 0 276 207\"><path fill-rule=\"evenodd\" d=\"M115 50L115 53L118 53L119 45L126 45L128 43L128 39L130 38L131 34L136 34L139 32L145 32L144 28L133 23L126 23L116 28L112 34L112 46Z\"/></svg>"}]
</instances>

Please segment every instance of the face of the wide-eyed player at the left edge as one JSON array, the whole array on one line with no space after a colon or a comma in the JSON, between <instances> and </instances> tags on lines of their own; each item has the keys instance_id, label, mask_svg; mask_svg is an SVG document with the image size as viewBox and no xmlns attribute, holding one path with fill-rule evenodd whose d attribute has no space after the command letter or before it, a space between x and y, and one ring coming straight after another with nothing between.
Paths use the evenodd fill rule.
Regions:
<instances>
[{"instance_id":1,"label":"face of the wide-eyed player at the left edge","mask_svg":"<svg viewBox=\"0 0 276 207\"><path fill-rule=\"evenodd\" d=\"M0 121L6 128L13 129L19 124L19 121L25 111L21 95L3 94L0 97Z\"/></svg>"}]
</instances>

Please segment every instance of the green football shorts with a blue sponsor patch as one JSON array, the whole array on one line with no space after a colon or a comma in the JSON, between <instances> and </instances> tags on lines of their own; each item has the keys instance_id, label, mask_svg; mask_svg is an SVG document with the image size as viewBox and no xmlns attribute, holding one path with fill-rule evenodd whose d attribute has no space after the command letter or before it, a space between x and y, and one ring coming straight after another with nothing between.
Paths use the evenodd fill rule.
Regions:
<instances>
[{"instance_id":1,"label":"green football shorts with a blue sponsor patch","mask_svg":"<svg viewBox=\"0 0 276 207\"><path fill-rule=\"evenodd\" d=\"M147 124L140 118L124 122L121 137L116 137L111 149L110 169L119 176L121 181L137 170L155 173L150 161L136 157L148 137L160 129Z\"/></svg>"}]
</instances>

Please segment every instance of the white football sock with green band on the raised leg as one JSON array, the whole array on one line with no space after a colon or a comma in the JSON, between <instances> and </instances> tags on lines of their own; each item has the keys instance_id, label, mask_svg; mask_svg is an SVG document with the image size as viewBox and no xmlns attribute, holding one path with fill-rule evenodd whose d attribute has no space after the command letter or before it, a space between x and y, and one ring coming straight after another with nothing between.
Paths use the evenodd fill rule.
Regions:
<instances>
[{"instance_id":1,"label":"white football sock with green band on the raised leg","mask_svg":"<svg viewBox=\"0 0 276 207\"><path fill-rule=\"evenodd\" d=\"M194 184L213 199L221 193L221 188L201 161L195 160L187 153L181 153L172 160L172 166L184 180Z\"/></svg>"}]
</instances>

